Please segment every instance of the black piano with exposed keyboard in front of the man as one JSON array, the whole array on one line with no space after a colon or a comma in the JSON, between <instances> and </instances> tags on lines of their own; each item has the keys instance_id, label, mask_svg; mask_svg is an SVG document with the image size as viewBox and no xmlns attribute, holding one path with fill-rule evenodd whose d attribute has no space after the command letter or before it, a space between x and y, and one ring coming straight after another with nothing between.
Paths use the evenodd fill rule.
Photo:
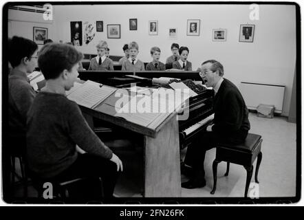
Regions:
<instances>
[{"instance_id":1,"label":"black piano with exposed keyboard in front of the man","mask_svg":"<svg viewBox=\"0 0 304 220\"><path fill-rule=\"evenodd\" d=\"M183 83L195 91L198 95L189 99L189 106L185 108L184 112L179 113L188 114L187 120L179 120L179 136L180 148L185 148L196 137L206 131L206 127L213 123L213 90L206 89L202 85L195 85L193 80L201 79L199 72L97 72L84 71L79 72L80 79L94 80L98 83L111 85L118 88L130 87L131 83L135 83L140 87L158 87L153 85L152 78L175 77L180 78ZM171 88L169 85L162 85L162 87ZM187 112L185 112L187 111Z\"/></svg>"}]
</instances>

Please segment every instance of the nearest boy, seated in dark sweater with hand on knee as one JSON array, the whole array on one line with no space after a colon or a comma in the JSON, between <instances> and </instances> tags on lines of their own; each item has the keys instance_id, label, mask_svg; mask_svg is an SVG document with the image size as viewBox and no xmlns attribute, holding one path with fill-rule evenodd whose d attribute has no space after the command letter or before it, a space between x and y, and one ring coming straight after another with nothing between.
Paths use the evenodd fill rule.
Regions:
<instances>
[{"instance_id":1,"label":"nearest boy, seated in dark sweater with hand on knee","mask_svg":"<svg viewBox=\"0 0 304 220\"><path fill-rule=\"evenodd\" d=\"M122 162L91 130L78 104L65 96L82 58L71 45L41 49L38 63L47 82L28 112L28 166L32 177L50 182L101 177L105 197L112 197ZM78 153L76 144L87 153Z\"/></svg>"}]
</instances>

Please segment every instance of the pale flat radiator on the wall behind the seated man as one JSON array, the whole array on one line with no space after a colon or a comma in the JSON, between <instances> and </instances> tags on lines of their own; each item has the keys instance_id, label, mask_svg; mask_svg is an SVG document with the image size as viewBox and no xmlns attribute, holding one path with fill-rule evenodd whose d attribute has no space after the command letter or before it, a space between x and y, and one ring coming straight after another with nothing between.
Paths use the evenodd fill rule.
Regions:
<instances>
[{"instance_id":1,"label":"pale flat radiator on the wall behind the seated man","mask_svg":"<svg viewBox=\"0 0 304 220\"><path fill-rule=\"evenodd\" d=\"M259 104L273 104L275 113L282 113L284 85L241 82L239 90L248 109L256 110Z\"/></svg>"}]
</instances>

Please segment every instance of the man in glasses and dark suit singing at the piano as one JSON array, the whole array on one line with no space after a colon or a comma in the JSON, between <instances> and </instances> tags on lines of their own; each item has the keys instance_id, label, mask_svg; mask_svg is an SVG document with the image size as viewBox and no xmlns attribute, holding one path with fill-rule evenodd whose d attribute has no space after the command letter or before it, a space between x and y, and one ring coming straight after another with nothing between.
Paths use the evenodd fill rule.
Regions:
<instances>
[{"instance_id":1,"label":"man in glasses and dark suit singing at the piano","mask_svg":"<svg viewBox=\"0 0 304 220\"><path fill-rule=\"evenodd\" d=\"M250 130L248 109L239 89L226 78L221 63L209 60L202 63L199 75L206 87L213 87L214 120L206 132L188 146L182 172L191 167L190 179L182 183L183 188L202 188L206 186L204 160L206 151L219 143L239 144Z\"/></svg>"}]
</instances>

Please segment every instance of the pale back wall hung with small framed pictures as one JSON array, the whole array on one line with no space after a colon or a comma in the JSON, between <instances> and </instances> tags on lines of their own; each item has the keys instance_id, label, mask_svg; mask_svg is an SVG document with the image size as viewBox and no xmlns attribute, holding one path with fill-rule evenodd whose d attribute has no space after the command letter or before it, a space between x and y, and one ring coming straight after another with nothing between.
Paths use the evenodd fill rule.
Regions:
<instances>
[{"instance_id":1,"label":"pale back wall hung with small framed pictures","mask_svg":"<svg viewBox=\"0 0 304 220\"><path fill-rule=\"evenodd\" d=\"M285 85L283 115L288 115L296 62L295 7L260 5L259 21L250 21L249 12L249 5L56 5L50 36L70 41L70 21L103 21L104 32L96 32L94 41L79 50L95 53L94 44L105 40L110 54L122 55L124 43L137 41L138 58L144 62L151 61L149 52L155 45L162 50L162 61L171 55L171 43L186 45L193 69L213 58L237 86L241 81ZM129 19L138 19L137 31L129 30ZM187 19L201 20L200 36L186 36ZM158 20L158 36L148 34L151 20ZM240 24L246 23L255 25L253 43L239 42ZM121 39L107 39L107 24L121 25ZM169 28L177 28L177 39L169 39ZM212 41L217 28L227 30L227 41Z\"/></svg>"}]
</instances>

